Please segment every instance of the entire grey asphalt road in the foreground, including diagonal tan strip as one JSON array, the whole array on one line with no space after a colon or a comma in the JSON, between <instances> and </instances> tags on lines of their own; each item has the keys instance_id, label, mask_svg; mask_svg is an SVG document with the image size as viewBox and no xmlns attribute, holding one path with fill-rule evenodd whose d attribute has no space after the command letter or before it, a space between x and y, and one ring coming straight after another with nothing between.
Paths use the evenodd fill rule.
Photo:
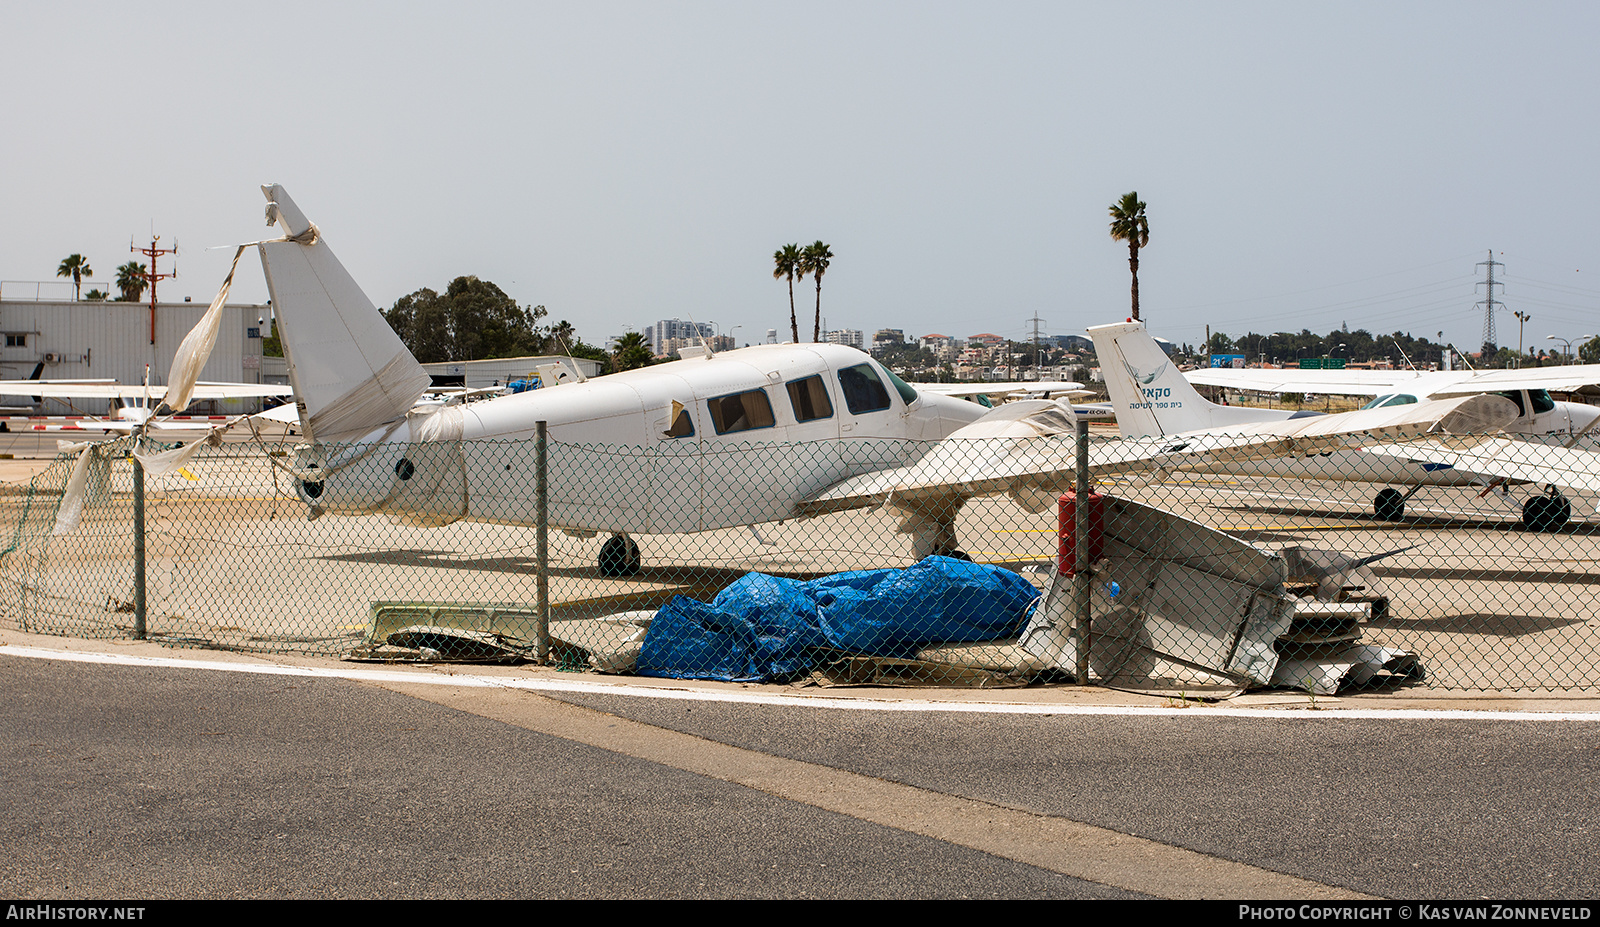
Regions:
<instances>
[{"instance_id":1,"label":"entire grey asphalt road in the foreground, including diagonal tan strip","mask_svg":"<svg viewBox=\"0 0 1600 927\"><path fill-rule=\"evenodd\" d=\"M1600 714L848 711L398 672L418 682L0 655L0 881L40 898L1600 890Z\"/></svg>"}]
</instances>

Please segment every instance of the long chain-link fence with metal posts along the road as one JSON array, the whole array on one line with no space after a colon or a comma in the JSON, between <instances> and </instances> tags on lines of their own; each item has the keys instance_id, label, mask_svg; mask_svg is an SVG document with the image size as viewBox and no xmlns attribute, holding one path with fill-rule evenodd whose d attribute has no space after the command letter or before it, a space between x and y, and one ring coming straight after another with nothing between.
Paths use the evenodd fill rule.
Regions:
<instances>
[{"instance_id":1,"label":"long chain-link fence with metal posts along the road","mask_svg":"<svg viewBox=\"0 0 1600 927\"><path fill-rule=\"evenodd\" d=\"M222 443L144 480L142 583L134 463L110 442L3 498L0 608L78 637L819 685L1600 685L1589 495L1168 458L1094 480L1091 568L1067 575L1072 442L1042 440L1059 485L814 517L842 476L928 445L552 442L547 524L574 530L542 559L534 440ZM1392 479L1392 456L1336 453Z\"/></svg>"}]
</instances>

